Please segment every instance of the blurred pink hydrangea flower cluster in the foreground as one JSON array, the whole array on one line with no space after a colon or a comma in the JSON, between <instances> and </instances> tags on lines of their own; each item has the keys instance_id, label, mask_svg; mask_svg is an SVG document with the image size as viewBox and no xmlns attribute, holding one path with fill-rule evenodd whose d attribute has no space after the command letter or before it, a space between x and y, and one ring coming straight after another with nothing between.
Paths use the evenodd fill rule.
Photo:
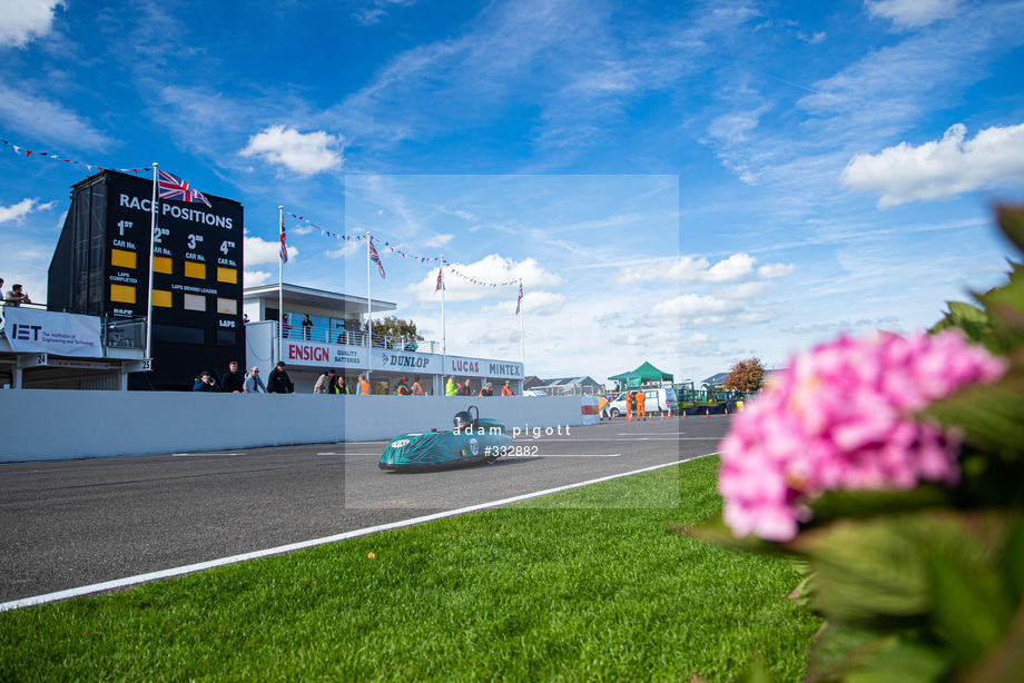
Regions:
<instances>
[{"instance_id":1,"label":"blurred pink hydrangea flower cluster in the foreground","mask_svg":"<svg viewBox=\"0 0 1024 683\"><path fill-rule=\"evenodd\" d=\"M722 442L726 523L738 537L785 542L826 491L955 485L958 441L913 413L1006 367L955 329L840 337L796 358Z\"/></svg>"}]
</instances>

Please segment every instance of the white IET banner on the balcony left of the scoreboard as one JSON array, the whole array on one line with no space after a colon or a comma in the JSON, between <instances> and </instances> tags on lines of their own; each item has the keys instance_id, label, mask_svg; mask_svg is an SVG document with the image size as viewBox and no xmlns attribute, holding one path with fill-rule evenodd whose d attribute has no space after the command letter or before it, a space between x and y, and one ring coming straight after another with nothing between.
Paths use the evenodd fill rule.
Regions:
<instances>
[{"instance_id":1,"label":"white IET banner on the balcony left of the scoreboard","mask_svg":"<svg viewBox=\"0 0 1024 683\"><path fill-rule=\"evenodd\" d=\"M95 316L7 306L3 329L16 353L101 358L100 320Z\"/></svg>"}]
</instances>

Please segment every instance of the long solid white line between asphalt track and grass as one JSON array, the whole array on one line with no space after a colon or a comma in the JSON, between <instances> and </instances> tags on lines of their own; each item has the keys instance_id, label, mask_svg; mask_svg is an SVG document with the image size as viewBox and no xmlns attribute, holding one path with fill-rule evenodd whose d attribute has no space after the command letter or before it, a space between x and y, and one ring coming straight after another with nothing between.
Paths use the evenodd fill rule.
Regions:
<instances>
[{"instance_id":1,"label":"long solid white line between asphalt track and grass","mask_svg":"<svg viewBox=\"0 0 1024 683\"><path fill-rule=\"evenodd\" d=\"M696 461L698 458L707 457L709 455L715 455L715 454L706 453L703 455L698 455L692 458L687 458L687 461L691 461L691 459ZM433 522L434 519L443 519L445 517L454 517L455 515L464 515L466 513L479 512L481 509L489 509L491 507L501 507L502 505L510 505L512 503L520 503L522 501L529 501L531 498L539 498L540 496L547 496L552 493L558 493L560 491L569 491L572 488L579 488L581 486L587 486L589 484L599 484L601 482L618 479L619 477L629 476L631 474L653 472L654 469L661 469L662 467L670 467L672 465L679 465L680 463L685 463L687 461L672 461L671 463L662 463L661 465L643 467L642 469L633 469L632 472L623 472L622 474L612 474L609 476L599 477L597 479L590 479L588 482L580 482L578 484L567 484L565 486L557 486L555 488L547 488L544 491L535 491L533 493L525 493L519 496L513 496L511 498L503 498L501 501L491 501L490 503L480 503L477 505L470 505L469 507L460 507L459 509L450 509L446 512L434 513L432 515L424 515L422 517L412 517L410 519L400 519L398 522L391 522L388 524L380 524L377 526L357 528L351 532L345 532L344 534L337 534L335 536L326 536L324 538L314 538L313 541L302 541L299 543L293 543L291 545L280 545L278 547L272 547L272 548L267 548L264 551L244 553L242 555L232 555L230 557L221 557L219 560L210 560L209 562L199 562L197 564L188 564L181 567L161 570L159 572L150 572L148 574L139 574L137 576L128 576L126 578L116 578L114 581L106 581L104 583L92 584L91 586L81 586L78 588L68 588L67 591L58 591L56 593L47 593L46 595L36 595L33 597L24 597L22 600L14 600L11 602L0 603L0 612L6 612L8 610L18 610L19 607L28 607L31 605L41 605L43 603L56 602L58 600L67 600L69 597L79 597L81 595L89 595L90 593L114 591L117 588L132 586L139 583L146 583L148 581L157 581L160 578L170 578L173 576L181 576L184 574L201 572L203 570L210 570L213 567L219 567L226 564L235 564L237 562L245 562L247 560L256 560L257 557L267 557L269 555L280 555L284 553L292 553L294 551L301 551L301 550L313 547L316 545L324 545L326 543L337 543L339 541L347 541L348 538L366 536L368 534L373 534L376 532L383 532L383 531L388 531L393 528L403 528L406 526L423 524L424 522Z\"/></svg>"}]
</instances>

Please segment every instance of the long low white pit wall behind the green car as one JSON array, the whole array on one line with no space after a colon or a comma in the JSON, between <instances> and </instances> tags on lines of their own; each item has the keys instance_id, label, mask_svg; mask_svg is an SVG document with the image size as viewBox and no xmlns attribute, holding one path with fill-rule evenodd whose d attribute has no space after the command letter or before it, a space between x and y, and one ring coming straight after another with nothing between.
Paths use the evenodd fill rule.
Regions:
<instances>
[{"instance_id":1,"label":"long low white pit wall behind the green car","mask_svg":"<svg viewBox=\"0 0 1024 683\"><path fill-rule=\"evenodd\" d=\"M0 463L390 439L470 405L512 427L582 425L581 397L0 390Z\"/></svg>"}]
</instances>

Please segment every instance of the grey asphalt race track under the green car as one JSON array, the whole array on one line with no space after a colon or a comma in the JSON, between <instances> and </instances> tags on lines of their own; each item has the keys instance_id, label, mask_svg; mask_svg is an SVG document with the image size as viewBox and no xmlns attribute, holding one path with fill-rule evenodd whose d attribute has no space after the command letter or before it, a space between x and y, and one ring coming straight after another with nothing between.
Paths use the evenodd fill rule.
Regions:
<instances>
[{"instance_id":1,"label":"grey asphalt race track under the green car","mask_svg":"<svg viewBox=\"0 0 1024 683\"><path fill-rule=\"evenodd\" d=\"M377 467L384 442L0 465L0 603L699 457L729 419L531 432L529 455L415 474Z\"/></svg>"}]
</instances>

